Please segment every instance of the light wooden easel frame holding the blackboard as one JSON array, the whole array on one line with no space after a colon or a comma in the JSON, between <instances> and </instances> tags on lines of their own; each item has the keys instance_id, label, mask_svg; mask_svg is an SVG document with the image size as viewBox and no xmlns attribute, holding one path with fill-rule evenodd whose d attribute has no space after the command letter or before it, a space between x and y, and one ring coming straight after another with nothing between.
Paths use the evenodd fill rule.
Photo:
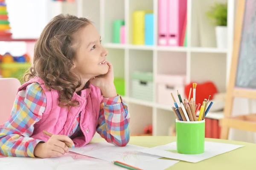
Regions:
<instances>
[{"instance_id":1,"label":"light wooden easel frame holding the blackboard","mask_svg":"<svg viewBox=\"0 0 256 170\"><path fill-rule=\"evenodd\" d=\"M249 4L249 3L251 3L251 4ZM228 139L230 128L256 132L256 114L232 116L233 100L235 97L256 99L256 88L255 87L252 88L251 86L246 87L246 86L241 86L241 85L237 86L237 84L239 84L239 83L237 83L239 81L239 78L237 78L237 74L239 72L238 66L239 66L239 64L241 64L241 61L239 61L239 57L241 57L241 55L245 54L245 57L243 56L243 61L246 60L247 58L250 58L250 56L248 56L247 53L241 52L241 50L243 50L241 48L241 46L244 45L241 43L243 43L243 42L246 43L246 41L242 41L243 34L245 34L245 35L247 34L246 31L243 32L243 29L248 28L249 26L251 26L250 24L253 24L253 23L250 23L251 19L252 19L252 16L250 14L254 14L254 13L250 11L251 13L249 14L248 10L250 9L250 10L256 11L255 3L256 2L254 2L254 0L250 1L250 2L248 2L248 0L239 0L238 5L237 5L236 27L235 27L234 42L233 42L233 58L232 58L232 63L231 63L232 65L231 65L231 70L230 70L230 81L229 81L229 86L227 89L226 105L224 108L224 118L220 120L221 138L222 139ZM246 7L248 7L248 9L245 9ZM248 12L248 14L246 12ZM250 17L250 18L247 18L247 17ZM244 18L247 19L246 22L244 21ZM247 24L247 25L244 26L244 24ZM251 27L249 27L249 28L251 28ZM248 37L248 36L246 36L246 37ZM256 36L254 38L256 40ZM252 47L250 47L250 45L252 45ZM253 45L254 44L245 44L244 46L247 46L247 47L244 49L248 50L249 48L251 48L252 50L255 50L256 47L254 49ZM251 54L251 55L255 55L255 54ZM256 58L255 58L255 60L256 60ZM248 63L250 63L250 62L248 62ZM249 68L249 67L250 67L250 64L248 64L247 68ZM244 67L244 68L246 70L246 67ZM248 69L246 71L248 71ZM256 70L254 72L256 72ZM244 77L246 77L246 76L243 76L242 78L244 78ZM240 76L240 78L241 78L241 76Z\"/></svg>"}]
</instances>

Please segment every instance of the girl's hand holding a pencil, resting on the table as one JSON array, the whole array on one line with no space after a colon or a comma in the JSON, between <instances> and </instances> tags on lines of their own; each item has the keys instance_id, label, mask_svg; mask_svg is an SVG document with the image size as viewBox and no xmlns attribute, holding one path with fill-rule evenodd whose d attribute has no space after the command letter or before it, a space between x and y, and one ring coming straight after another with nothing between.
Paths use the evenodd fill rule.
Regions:
<instances>
[{"instance_id":1,"label":"girl's hand holding a pencil, resting on the table","mask_svg":"<svg viewBox=\"0 0 256 170\"><path fill-rule=\"evenodd\" d=\"M34 150L34 156L39 158L52 158L63 156L68 153L68 147L64 143L69 142L74 146L74 142L66 135L52 135L45 143L38 143Z\"/></svg>"}]
</instances>

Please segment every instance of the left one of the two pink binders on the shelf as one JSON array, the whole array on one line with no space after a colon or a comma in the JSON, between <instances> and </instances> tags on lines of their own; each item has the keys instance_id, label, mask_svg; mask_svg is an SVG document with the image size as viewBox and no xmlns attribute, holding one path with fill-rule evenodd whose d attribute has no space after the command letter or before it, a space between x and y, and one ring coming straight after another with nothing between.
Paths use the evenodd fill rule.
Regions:
<instances>
[{"instance_id":1,"label":"left one of the two pink binders on the shelf","mask_svg":"<svg viewBox=\"0 0 256 170\"><path fill-rule=\"evenodd\" d=\"M158 45L168 45L167 32L167 14L168 14L168 0L158 0Z\"/></svg>"}]
</instances>

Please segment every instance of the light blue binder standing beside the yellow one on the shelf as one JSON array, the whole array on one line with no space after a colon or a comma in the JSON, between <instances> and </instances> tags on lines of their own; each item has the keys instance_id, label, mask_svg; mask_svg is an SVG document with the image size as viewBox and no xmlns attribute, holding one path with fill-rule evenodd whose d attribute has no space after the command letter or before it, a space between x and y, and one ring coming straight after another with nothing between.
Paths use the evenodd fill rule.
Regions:
<instances>
[{"instance_id":1,"label":"light blue binder standing beside the yellow one on the shelf","mask_svg":"<svg viewBox=\"0 0 256 170\"><path fill-rule=\"evenodd\" d=\"M154 45L154 14L145 14L145 45Z\"/></svg>"}]
</instances>

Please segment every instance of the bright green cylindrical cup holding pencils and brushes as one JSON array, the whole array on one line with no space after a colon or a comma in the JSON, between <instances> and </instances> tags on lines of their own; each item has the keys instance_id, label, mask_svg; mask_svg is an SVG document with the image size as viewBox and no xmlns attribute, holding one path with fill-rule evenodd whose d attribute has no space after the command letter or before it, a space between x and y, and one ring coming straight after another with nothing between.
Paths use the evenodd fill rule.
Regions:
<instances>
[{"instance_id":1,"label":"bright green cylindrical cup holding pencils and brushes","mask_svg":"<svg viewBox=\"0 0 256 170\"><path fill-rule=\"evenodd\" d=\"M177 153L204 153L205 121L179 121L176 119Z\"/></svg>"}]
</instances>

